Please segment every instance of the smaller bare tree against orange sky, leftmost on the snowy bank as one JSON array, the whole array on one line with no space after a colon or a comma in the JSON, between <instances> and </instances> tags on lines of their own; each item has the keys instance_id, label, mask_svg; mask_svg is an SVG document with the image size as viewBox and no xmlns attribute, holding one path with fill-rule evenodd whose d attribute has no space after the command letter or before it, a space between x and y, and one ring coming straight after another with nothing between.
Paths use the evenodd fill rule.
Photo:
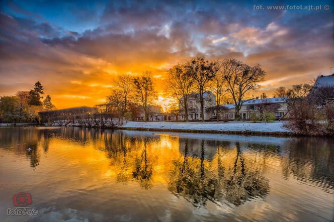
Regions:
<instances>
[{"instance_id":1,"label":"smaller bare tree against orange sky, leftmost on the snowy bank","mask_svg":"<svg viewBox=\"0 0 334 222\"><path fill-rule=\"evenodd\" d=\"M118 91L117 94L120 96L119 99L122 101L120 104L120 109L122 116L124 116L124 113L126 113L128 109L131 94L134 91L133 78L128 74L121 74L117 76L113 83L115 85L114 90Z\"/></svg>"}]
</instances>

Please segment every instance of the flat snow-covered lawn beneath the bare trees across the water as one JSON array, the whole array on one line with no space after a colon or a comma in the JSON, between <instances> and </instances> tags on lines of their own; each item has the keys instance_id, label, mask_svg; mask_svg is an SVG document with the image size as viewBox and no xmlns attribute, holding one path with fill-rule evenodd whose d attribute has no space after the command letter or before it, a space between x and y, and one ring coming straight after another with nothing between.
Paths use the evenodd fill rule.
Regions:
<instances>
[{"instance_id":1,"label":"flat snow-covered lawn beneath the bare trees across the water","mask_svg":"<svg viewBox=\"0 0 334 222\"><path fill-rule=\"evenodd\" d=\"M146 128L146 129L180 129L180 130L207 130L207 131L252 131L252 132L290 132L283 127L284 122L251 123L233 121L228 123L217 122L134 122L124 123L119 128Z\"/></svg>"}]
</instances>

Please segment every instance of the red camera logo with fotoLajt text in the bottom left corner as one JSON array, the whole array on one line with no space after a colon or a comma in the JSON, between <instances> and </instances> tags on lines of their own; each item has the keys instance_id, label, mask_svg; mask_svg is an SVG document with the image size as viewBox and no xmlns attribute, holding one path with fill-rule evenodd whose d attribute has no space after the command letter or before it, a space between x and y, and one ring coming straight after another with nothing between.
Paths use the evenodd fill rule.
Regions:
<instances>
[{"instance_id":1,"label":"red camera logo with fotoLajt text in the bottom left corner","mask_svg":"<svg viewBox=\"0 0 334 222\"><path fill-rule=\"evenodd\" d=\"M19 192L13 195L13 205L16 208L8 208L7 214L9 216L35 216L38 214L38 210L29 205L33 202L30 193Z\"/></svg>"}]
</instances>

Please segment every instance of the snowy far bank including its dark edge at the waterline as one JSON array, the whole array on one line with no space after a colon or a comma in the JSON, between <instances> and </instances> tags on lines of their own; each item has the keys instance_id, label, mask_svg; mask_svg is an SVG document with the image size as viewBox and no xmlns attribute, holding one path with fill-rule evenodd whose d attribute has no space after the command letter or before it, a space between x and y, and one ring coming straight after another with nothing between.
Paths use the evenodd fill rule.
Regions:
<instances>
[{"instance_id":1,"label":"snowy far bank including its dark edge at the waterline","mask_svg":"<svg viewBox=\"0 0 334 222\"><path fill-rule=\"evenodd\" d=\"M284 122L252 123L234 121L217 122L134 122L129 121L117 129L139 131L185 132L185 133L219 133L248 135L296 135L286 129Z\"/></svg>"}]
</instances>

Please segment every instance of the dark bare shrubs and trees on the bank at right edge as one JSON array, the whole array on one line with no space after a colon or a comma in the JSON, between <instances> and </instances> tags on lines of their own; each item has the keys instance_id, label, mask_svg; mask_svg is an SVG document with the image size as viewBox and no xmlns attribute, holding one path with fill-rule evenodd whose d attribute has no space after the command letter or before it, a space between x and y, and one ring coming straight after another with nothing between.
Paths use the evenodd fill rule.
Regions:
<instances>
[{"instance_id":1,"label":"dark bare shrubs and trees on the bank at right edge","mask_svg":"<svg viewBox=\"0 0 334 222\"><path fill-rule=\"evenodd\" d=\"M279 87L275 95L285 98L288 105L291 121L286 127L306 135L334 135L334 85Z\"/></svg>"}]
</instances>

